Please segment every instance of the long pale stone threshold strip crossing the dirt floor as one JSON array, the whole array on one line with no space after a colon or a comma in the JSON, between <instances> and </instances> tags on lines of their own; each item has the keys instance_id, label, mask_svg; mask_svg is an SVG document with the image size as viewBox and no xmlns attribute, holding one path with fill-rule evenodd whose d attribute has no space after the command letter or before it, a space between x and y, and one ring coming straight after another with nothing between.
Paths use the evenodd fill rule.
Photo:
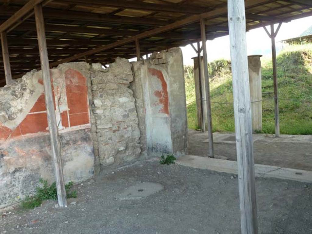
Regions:
<instances>
[{"instance_id":1,"label":"long pale stone threshold strip crossing the dirt floor","mask_svg":"<svg viewBox=\"0 0 312 234\"><path fill-rule=\"evenodd\" d=\"M178 165L237 174L237 162L213 159L194 155L181 156L176 160ZM277 166L255 164L256 177L289 179L304 183L312 183L312 171L298 170Z\"/></svg>"}]
</instances>

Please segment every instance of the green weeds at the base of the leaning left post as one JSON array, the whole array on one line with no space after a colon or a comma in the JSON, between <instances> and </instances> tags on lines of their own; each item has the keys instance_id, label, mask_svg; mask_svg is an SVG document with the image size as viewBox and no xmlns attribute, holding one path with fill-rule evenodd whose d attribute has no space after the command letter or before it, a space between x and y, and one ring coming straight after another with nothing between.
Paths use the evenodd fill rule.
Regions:
<instances>
[{"instance_id":1,"label":"green weeds at the base of the leaning left post","mask_svg":"<svg viewBox=\"0 0 312 234\"><path fill-rule=\"evenodd\" d=\"M47 180L39 180L41 186L36 188L36 194L33 196L26 196L22 201L21 207L23 209L33 209L41 205L44 200L57 200L56 183L53 182L51 185L48 184ZM69 182L65 185L67 198L76 198L77 191L71 191L73 182Z\"/></svg>"}]
</instances>

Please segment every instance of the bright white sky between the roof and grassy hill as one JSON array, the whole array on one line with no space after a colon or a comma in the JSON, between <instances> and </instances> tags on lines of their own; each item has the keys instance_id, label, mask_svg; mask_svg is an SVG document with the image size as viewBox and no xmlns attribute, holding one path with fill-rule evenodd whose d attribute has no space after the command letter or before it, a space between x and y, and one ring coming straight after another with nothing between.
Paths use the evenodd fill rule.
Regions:
<instances>
[{"instance_id":1,"label":"bright white sky between the roof and grassy hill","mask_svg":"<svg viewBox=\"0 0 312 234\"><path fill-rule=\"evenodd\" d=\"M280 27L275 41L277 52L283 47L280 41L298 37L306 29L312 25L312 16L302 19L293 20L288 23L283 23ZM275 29L278 25L275 25ZM267 26L270 32L270 27ZM248 55L263 55L271 56L271 39L266 34L266 31L261 27L250 30L246 33L247 52ZM194 44L197 47L196 44ZM197 56L191 45L182 48L184 65L193 65L192 58ZM229 36L222 36L212 41L207 41L207 56L208 62L216 59L230 59L230 39Z\"/></svg>"}]
</instances>

